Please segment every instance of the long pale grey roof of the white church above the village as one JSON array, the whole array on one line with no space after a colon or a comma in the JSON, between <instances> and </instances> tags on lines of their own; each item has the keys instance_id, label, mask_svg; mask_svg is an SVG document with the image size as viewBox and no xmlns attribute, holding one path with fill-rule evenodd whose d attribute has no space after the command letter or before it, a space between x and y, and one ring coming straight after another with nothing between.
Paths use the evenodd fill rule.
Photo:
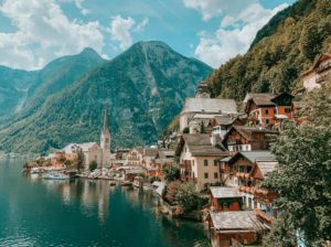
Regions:
<instances>
[{"instance_id":1,"label":"long pale grey roof of the white church above the village","mask_svg":"<svg viewBox=\"0 0 331 247\"><path fill-rule=\"evenodd\" d=\"M188 98L182 110L184 112L236 114L237 105L234 99Z\"/></svg>"}]
</instances>

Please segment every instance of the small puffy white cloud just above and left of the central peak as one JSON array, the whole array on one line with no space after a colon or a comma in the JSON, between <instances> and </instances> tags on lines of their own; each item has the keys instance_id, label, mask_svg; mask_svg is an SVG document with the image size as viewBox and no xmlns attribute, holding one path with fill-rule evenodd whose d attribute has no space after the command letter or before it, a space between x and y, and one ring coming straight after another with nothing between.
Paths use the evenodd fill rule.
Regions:
<instances>
[{"instance_id":1,"label":"small puffy white cloud just above and left of the central peak","mask_svg":"<svg viewBox=\"0 0 331 247\"><path fill-rule=\"evenodd\" d=\"M111 35L111 40L119 43L119 49L126 50L132 44L131 31L141 32L148 23L148 18L145 18L140 23L136 24L136 21L132 18L128 17L125 19L120 14L117 14L111 18L108 32Z\"/></svg>"}]
</instances>

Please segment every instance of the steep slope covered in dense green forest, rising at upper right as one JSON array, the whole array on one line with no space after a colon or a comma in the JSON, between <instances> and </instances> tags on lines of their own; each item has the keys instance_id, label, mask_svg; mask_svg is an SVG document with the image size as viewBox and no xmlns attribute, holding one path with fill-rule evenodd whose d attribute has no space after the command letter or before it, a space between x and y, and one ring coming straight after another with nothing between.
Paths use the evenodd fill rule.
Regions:
<instances>
[{"instance_id":1,"label":"steep slope covered in dense green forest, rising at upper right","mask_svg":"<svg viewBox=\"0 0 331 247\"><path fill-rule=\"evenodd\" d=\"M258 31L249 51L207 77L215 97L243 100L247 92L291 92L321 53L331 52L331 1L299 0Z\"/></svg>"}]
</instances>

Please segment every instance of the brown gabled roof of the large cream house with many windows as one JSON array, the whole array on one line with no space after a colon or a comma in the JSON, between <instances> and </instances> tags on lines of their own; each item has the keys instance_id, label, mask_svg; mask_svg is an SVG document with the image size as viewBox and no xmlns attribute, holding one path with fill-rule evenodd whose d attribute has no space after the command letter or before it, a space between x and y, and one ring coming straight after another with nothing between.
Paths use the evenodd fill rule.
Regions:
<instances>
[{"instance_id":1,"label":"brown gabled roof of the large cream house with many windows","mask_svg":"<svg viewBox=\"0 0 331 247\"><path fill-rule=\"evenodd\" d=\"M221 157L228 155L227 151L218 149L211 143L209 133L184 133L178 144L177 154L179 155L184 144L189 147L193 157Z\"/></svg>"}]
</instances>

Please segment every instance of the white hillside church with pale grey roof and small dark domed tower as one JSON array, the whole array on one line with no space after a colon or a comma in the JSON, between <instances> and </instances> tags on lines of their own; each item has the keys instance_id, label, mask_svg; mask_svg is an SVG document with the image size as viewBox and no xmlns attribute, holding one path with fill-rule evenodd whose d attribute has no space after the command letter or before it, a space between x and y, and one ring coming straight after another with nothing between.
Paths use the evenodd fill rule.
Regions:
<instances>
[{"instance_id":1,"label":"white hillside church with pale grey roof and small dark domed tower","mask_svg":"<svg viewBox=\"0 0 331 247\"><path fill-rule=\"evenodd\" d=\"M194 98L186 98L180 114L180 131L185 128L190 132L201 132L201 122L207 126L215 116L236 115L237 105L234 99L211 98L207 85L202 82Z\"/></svg>"}]
</instances>

